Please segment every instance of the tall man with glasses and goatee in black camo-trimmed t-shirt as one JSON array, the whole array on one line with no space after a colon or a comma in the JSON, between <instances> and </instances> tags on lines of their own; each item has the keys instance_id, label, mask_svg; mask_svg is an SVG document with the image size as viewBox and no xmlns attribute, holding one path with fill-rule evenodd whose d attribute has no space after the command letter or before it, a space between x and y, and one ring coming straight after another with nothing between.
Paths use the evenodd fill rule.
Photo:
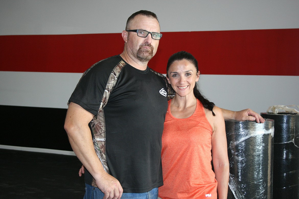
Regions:
<instances>
[{"instance_id":1,"label":"tall man with glasses and goatee in black camo-trimmed t-shirt","mask_svg":"<svg viewBox=\"0 0 299 199\"><path fill-rule=\"evenodd\" d=\"M86 168L84 198L157 198L163 185L161 136L170 88L147 67L162 37L157 16L132 14L122 37L123 53L84 72L69 100L65 130ZM263 122L250 109L223 112L226 119Z\"/></svg>"}]
</instances>

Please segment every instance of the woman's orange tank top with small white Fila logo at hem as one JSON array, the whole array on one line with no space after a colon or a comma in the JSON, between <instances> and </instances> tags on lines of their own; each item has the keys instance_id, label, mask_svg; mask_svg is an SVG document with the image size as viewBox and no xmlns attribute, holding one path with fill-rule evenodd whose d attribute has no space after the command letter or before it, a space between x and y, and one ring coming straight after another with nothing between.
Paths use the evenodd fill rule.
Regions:
<instances>
[{"instance_id":1,"label":"woman's orange tank top with small white Fila logo at hem","mask_svg":"<svg viewBox=\"0 0 299 199\"><path fill-rule=\"evenodd\" d=\"M163 199L217 199L217 181L211 166L212 127L205 109L197 100L189 118L179 119L170 112L170 103L162 135Z\"/></svg>"}]
</instances>

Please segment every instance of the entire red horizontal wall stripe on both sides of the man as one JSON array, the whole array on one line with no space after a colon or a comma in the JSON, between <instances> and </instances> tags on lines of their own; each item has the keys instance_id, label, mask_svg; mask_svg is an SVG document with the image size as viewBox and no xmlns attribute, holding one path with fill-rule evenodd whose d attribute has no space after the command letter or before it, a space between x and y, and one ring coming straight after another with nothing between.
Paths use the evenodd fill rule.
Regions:
<instances>
[{"instance_id":1,"label":"entire red horizontal wall stripe on both sides of the man","mask_svg":"<svg viewBox=\"0 0 299 199\"><path fill-rule=\"evenodd\" d=\"M0 70L84 72L123 51L120 33L0 36ZM299 29L165 32L149 62L166 73L167 59L185 50L202 74L299 75Z\"/></svg>"}]
</instances>

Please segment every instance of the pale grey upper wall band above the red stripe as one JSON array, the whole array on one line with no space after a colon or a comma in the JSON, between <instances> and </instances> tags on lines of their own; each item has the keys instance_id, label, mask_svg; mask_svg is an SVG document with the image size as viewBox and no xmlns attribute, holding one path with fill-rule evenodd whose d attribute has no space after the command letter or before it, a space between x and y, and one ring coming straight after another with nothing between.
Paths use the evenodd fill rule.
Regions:
<instances>
[{"instance_id":1,"label":"pale grey upper wall band above the red stripe","mask_svg":"<svg viewBox=\"0 0 299 199\"><path fill-rule=\"evenodd\" d=\"M299 27L298 0L1 0L0 35L120 33L138 10L162 32Z\"/></svg>"}]
</instances>

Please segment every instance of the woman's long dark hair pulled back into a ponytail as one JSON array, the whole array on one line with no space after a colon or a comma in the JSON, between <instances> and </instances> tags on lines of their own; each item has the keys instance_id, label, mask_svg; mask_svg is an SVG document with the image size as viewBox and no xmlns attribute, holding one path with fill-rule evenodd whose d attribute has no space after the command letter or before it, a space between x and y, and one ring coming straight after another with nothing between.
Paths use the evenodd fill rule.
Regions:
<instances>
[{"instance_id":1,"label":"woman's long dark hair pulled back into a ponytail","mask_svg":"<svg viewBox=\"0 0 299 199\"><path fill-rule=\"evenodd\" d=\"M183 59L186 59L187 61L190 61L194 65L194 67L196 68L196 73L199 71L196 58L193 55L191 55L190 53L186 52L186 51L180 51L180 52L174 53L168 59L167 67L166 67L167 77L168 77L168 70L169 70L170 65L173 64L174 61L183 60ZM215 116L215 113L213 112L213 108L214 108L215 104L213 102L210 102L208 99L205 98L205 96L203 96L200 93L200 91L197 89L196 84L195 84L194 89L193 89L193 94L202 103L202 105L206 109L212 111L213 115Z\"/></svg>"}]
</instances>

